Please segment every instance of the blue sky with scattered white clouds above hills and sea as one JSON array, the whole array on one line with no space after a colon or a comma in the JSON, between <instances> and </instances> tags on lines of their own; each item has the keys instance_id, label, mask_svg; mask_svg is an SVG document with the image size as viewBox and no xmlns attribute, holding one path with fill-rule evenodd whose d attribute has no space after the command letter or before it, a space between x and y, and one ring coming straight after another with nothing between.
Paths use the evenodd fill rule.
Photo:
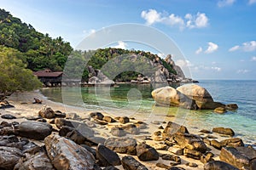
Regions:
<instances>
[{"instance_id":1,"label":"blue sky with scattered white clouds above hills and sea","mask_svg":"<svg viewBox=\"0 0 256 170\"><path fill-rule=\"evenodd\" d=\"M256 80L256 0L0 0L0 8L73 48L108 26L149 26L180 49L183 58L172 59L189 67L187 77ZM121 40L112 47L150 51Z\"/></svg>"}]
</instances>

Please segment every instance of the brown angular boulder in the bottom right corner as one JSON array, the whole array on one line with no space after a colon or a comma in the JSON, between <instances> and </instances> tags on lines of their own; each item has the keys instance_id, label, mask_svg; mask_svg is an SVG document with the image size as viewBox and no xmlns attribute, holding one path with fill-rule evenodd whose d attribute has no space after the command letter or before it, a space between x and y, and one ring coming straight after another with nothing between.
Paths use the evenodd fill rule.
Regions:
<instances>
[{"instance_id":1,"label":"brown angular boulder in the bottom right corner","mask_svg":"<svg viewBox=\"0 0 256 170\"><path fill-rule=\"evenodd\" d=\"M248 147L223 147L219 159L240 169L250 167L250 161L256 159L256 150Z\"/></svg>"}]
</instances>

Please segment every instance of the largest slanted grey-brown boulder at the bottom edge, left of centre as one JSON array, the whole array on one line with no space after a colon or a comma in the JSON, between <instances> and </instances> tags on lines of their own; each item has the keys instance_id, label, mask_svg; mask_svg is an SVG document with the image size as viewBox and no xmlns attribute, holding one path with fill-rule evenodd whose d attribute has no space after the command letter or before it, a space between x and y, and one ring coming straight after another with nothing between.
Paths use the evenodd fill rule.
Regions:
<instances>
[{"instance_id":1,"label":"largest slanted grey-brown boulder at the bottom edge, left of centre","mask_svg":"<svg viewBox=\"0 0 256 170\"><path fill-rule=\"evenodd\" d=\"M57 170L88 169L93 170L96 164L95 157L72 140L51 134L44 139L49 159Z\"/></svg>"}]
</instances>

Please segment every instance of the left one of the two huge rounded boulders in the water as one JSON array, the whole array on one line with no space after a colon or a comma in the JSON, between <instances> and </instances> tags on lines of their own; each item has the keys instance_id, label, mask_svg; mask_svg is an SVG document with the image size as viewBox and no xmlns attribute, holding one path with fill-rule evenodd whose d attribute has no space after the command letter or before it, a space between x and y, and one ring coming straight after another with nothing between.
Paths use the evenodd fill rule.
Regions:
<instances>
[{"instance_id":1,"label":"left one of the two huge rounded boulders in the water","mask_svg":"<svg viewBox=\"0 0 256 170\"><path fill-rule=\"evenodd\" d=\"M185 109L197 109L194 99L189 99L186 95L169 86L156 88L151 94L156 104L160 106L171 105Z\"/></svg>"}]
</instances>

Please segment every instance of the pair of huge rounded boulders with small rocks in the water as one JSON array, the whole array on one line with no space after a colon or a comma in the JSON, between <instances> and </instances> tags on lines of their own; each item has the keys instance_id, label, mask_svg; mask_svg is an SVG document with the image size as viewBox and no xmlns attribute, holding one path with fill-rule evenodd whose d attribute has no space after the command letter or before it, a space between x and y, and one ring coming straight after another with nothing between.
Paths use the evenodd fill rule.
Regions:
<instances>
[{"instance_id":1,"label":"pair of huge rounded boulders with small rocks in the water","mask_svg":"<svg viewBox=\"0 0 256 170\"><path fill-rule=\"evenodd\" d=\"M151 93L156 105L177 106L190 110L214 110L224 113L226 110L234 111L238 108L236 104L224 105L215 102L206 88L196 84L184 84L177 89L172 87L156 88Z\"/></svg>"}]
</instances>

